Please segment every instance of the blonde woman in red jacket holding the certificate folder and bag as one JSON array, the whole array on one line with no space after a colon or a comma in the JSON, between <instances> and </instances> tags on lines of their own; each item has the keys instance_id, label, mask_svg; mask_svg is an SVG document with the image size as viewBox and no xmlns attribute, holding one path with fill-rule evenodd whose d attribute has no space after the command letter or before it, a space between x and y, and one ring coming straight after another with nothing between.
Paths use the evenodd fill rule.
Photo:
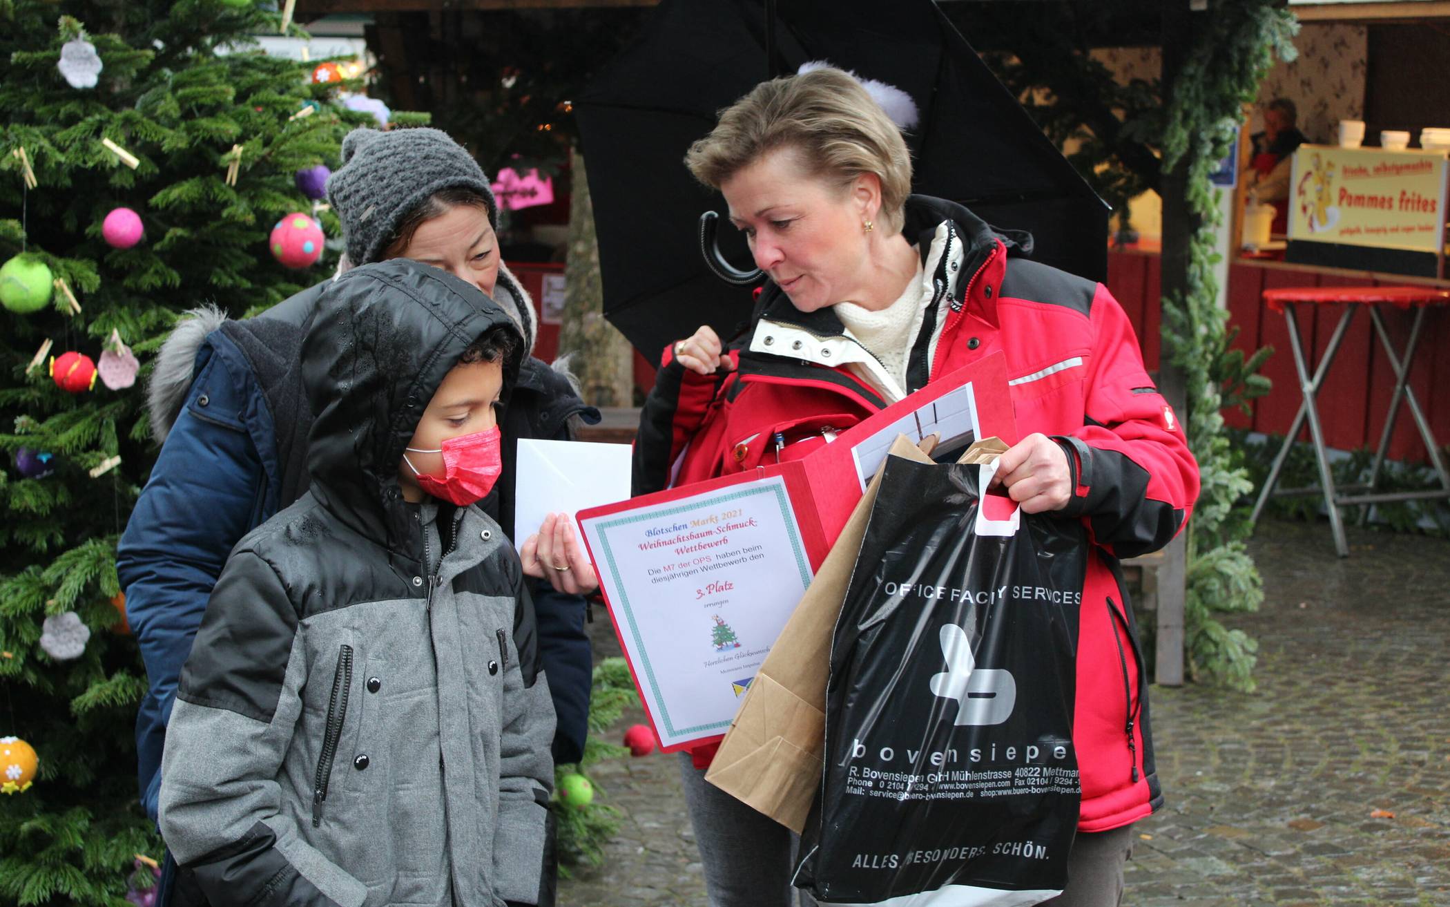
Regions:
<instances>
[{"instance_id":1,"label":"blonde woman in red jacket holding the certificate folder and bag","mask_svg":"<svg viewBox=\"0 0 1450 907\"><path fill-rule=\"evenodd\" d=\"M998 475L1025 512L1083 520L1099 553L1079 628L1082 813L1054 903L1116 904L1131 823L1163 803L1118 557L1167 544L1198 495L1198 467L1121 306L1102 284L1022 257L1030 239L909 196L900 131L840 70L757 86L686 164L725 194L768 280L737 341L702 327L664 351L635 493L803 456L1003 353L1021 441ZM712 756L700 749L683 765L710 904L784 906L792 836L706 785Z\"/></svg>"}]
</instances>

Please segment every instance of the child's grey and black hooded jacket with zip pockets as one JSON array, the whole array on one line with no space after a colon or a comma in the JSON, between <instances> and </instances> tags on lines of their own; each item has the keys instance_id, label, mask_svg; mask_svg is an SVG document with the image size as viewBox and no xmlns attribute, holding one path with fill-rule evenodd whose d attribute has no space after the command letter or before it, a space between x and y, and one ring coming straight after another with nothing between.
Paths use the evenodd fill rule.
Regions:
<instances>
[{"instance_id":1,"label":"child's grey and black hooded jacket with zip pockets","mask_svg":"<svg viewBox=\"0 0 1450 907\"><path fill-rule=\"evenodd\" d=\"M322 292L312 485L232 551L171 713L173 904L536 901L554 710L521 670L518 554L477 505L397 483L434 390L497 325L476 287L403 260Z\"/></svg>"}]
</instances>

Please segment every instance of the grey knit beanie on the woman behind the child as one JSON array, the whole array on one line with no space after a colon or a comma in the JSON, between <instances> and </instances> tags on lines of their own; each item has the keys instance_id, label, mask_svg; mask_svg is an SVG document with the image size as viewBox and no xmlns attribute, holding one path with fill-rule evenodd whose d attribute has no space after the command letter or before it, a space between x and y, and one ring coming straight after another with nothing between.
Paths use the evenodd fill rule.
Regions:
<instances>
[{"instance_id":1,"label":"grey knit beanie on the woman behind the child","mask_svg":"<svg viewBox=\"0 0 1450 907\"><path fill-rule=\"evenodd\" d=\"M352 264L377 261L397 225L431 194L465 187L489 205L499 229L499 205L483 168L438 129L354 129L342 139L342 167L328 177L328 202L342 221Z\"/></svg>"}]
</instances>

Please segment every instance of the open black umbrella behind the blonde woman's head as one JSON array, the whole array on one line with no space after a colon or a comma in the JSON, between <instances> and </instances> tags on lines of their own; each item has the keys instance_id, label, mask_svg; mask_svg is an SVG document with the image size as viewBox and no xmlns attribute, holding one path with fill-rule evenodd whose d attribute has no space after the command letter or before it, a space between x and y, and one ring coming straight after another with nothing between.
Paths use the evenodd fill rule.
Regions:
<instances>
[{"instance_id":1,"label":"open black umbrella behind the blonde woman's head","mask_svg":"<svg viewBox=\"0 0 1450 907\"><path fill-rule=\"evenodd\" d=\"M750 315L748 287L710 273L700 213L719 193L684 168L716 113L771 73L829 61L906 91L914 189L1031 231L1034 257L1085 277L1106 271L1108 208L931 0L663 0L576 106L594 203L605 315L647 358L709 324L722 337ZM767 65L766 46L774 46ZM744 238L721 231L737 268Z\"/></svg>"}]
</instances>

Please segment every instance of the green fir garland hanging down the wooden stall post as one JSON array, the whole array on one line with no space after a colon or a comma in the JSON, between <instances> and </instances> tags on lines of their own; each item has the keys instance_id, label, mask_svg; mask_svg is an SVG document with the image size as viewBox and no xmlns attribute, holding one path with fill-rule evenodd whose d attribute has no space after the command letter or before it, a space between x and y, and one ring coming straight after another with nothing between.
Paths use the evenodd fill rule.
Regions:
<instances>
[{"instance_id":1,"label":"green fir garland hanging down the wooden stall post","mask_svg":"<svg viewBox=\"0 0 1450 907\"><path fill-rule=\"evenodd\" d=\"M1164 342L1183 369L1188 387L1188 441L1198 459L1202 489L1188 540L1185 647L1195 679L1251 691L1259 644L1228 630L1215 612L1254 611L1263 602L1259 569L1244 547L1253 531L1235 504L1253 492L1243 456L1230 444L1219 415L1225 405L1262 396L1269 380L1257 374L1270 354L1247 361L1230 350L1228 312L1218 306L1212 268L1219 226L1217 190L1208 174L1232 148L1234 125L1253 103L1275 57L1292 61L1293 15L1273 0L1224 0L1204 16L1196 41L1173 86L1163 134L1163 173L1185 167L1188 203L1199 218L1190 239L1188 290L1164 295ZM1225 399L1227 395L1227 399Z\"/></svg>"}]
</instances>

